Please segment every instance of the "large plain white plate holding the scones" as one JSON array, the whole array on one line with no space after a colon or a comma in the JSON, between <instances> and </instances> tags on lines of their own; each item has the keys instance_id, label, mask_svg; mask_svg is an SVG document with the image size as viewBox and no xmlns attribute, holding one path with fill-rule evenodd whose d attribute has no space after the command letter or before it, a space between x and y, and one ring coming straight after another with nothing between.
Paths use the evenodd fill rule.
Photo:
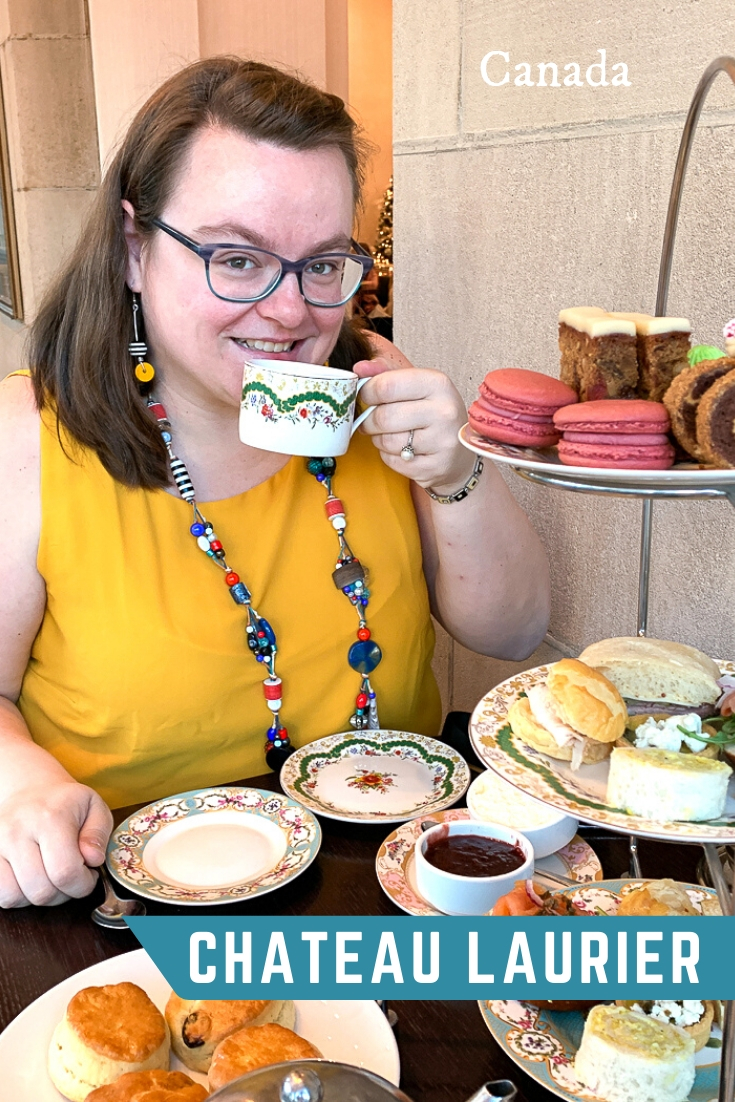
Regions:
<instances>
[{"instance_id":1,"label":"large plain white plate holding the scones","mask_svg":"<svg viewBox=\"0 0 735 1102\"><path fill-rule=\"evenodd\" d=\"M46 1054L68 1001L83 987L106 983L137 983L163 1011L171 987L143 949L93 964L56 984L18 1015L0 1034L2 1096L13 1102L63 1102L46 1072ZM327 1060L367 1068L398 1085L400 1061L393 1031L377 1003L307 1002L295 1000L295 1030L315 1045ZM19 1054L22 1058L19 1059ZM206 1076L190 1071L175 1056L174 1071L206 1087Z\"/></svg>"}]
</instances>

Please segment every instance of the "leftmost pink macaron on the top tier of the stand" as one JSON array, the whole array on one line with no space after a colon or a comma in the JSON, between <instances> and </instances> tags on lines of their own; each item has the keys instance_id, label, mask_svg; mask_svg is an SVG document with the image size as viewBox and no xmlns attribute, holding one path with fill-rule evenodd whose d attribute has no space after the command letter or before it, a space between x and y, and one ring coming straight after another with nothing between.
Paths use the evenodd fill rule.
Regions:
<instances>
[{"instance_id":1,"label":"leftmost pink macaron on the top tier of the stand","mask_svg":"<svg viewBox=\"0 0 735 1102\"><path fill-rule=\"evenodd\" d=\"M559 440L553 415L576 402L571 387L540 371L504 367L480 383L479 398L469 407L475 432L504 444L549 447Z\"/></svg>"}]
</instances>

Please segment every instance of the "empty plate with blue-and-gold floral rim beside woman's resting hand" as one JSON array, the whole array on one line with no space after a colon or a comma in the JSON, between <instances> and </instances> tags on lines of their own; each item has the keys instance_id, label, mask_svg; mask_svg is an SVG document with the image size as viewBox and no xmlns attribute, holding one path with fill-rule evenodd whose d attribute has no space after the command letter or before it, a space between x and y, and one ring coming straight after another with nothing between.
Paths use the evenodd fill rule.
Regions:
<instances>
[{"instance_id":1,"label":"empty plate with blue-and-gold floral rim beside woman's resting hand","mask_svg":"<svg viewBox=\"0 0 735 1102\"><path fill-rule=\"evenodd\" d=\"M203 788L156 800L112 832L107 865L137 895L202 907L251 899L309 868L322 829L260 788Z\"/></svg>"}]
</instances>

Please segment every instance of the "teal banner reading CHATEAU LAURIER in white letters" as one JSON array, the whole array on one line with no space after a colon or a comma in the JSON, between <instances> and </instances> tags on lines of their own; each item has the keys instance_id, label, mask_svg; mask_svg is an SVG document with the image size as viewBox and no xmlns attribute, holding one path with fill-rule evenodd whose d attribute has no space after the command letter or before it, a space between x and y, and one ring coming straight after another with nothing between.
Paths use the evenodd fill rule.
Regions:
<instances>
[{"instance_id":1,"label":"teal banner reading CHATEAU LAURIER in white letters","mask_svg":"<svg viewBox=\"0 0 735 1102\"><path fill-rule=\"evenodd\" d=\"M733 918L131 918L182 998L735 998Z\"/></svg>"}]
</instances>

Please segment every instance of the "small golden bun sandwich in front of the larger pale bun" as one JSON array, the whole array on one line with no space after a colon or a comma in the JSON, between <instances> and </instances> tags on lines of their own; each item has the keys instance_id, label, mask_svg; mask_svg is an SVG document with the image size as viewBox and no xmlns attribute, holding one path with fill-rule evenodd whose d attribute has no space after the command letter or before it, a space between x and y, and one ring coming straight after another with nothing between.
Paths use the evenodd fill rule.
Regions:
<instances>
[{"instance_id":1,"label":"small golden bun sandwich in front of the larger pale bun","mask_svg":"<svg viewBox=\"0 0 735 1102\"><path fill-rule=\"evenodd\" d=\"M625 731L627 711L607 678L575 658L549 667L545 682L511 704L515 735L572 769L606 758Z\"/></svg>"}]
</instances>

